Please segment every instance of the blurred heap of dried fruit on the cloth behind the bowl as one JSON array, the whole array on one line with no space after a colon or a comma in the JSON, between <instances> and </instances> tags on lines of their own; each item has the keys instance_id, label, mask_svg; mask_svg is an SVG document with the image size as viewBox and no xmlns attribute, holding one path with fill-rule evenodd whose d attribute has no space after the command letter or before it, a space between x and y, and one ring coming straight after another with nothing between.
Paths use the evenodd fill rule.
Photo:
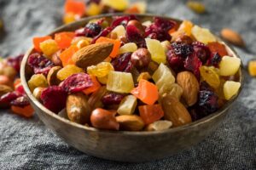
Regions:
<instances>
[{"instance_id":1,"label":"blurred heap of dried fruit on the cloth behind the bowl","mask_svg":"<svg viewBox=\"0 0 256 170\"><path fill-rule=\"evenodd\" d=\"M63 15L64 24L97 14L143 14L147 8L147 3L144 1L130 3L129 0L89 0L86 2L84 0L66 0Z\"/></svg>"}]
</instances>

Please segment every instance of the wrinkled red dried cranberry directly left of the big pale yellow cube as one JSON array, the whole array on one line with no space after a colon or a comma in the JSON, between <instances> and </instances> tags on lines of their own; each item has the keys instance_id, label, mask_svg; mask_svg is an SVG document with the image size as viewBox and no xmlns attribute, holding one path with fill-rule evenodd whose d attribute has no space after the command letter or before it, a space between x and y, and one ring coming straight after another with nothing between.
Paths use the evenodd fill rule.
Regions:
<instances>
[{"instance_id":1,"label":"wrinkled red dried cranberry directly left of the big pale yellow cube","mask_svg":"<svg viewBox=\"0 0 256 170\"><path fill-rule=\"evenodd\" d=\"M90 88L92 85L93 82L88 74L77 73L67 77L60 86L66 92L76 93L84 90L84 88Z\"/></svg>"}]
</instances>

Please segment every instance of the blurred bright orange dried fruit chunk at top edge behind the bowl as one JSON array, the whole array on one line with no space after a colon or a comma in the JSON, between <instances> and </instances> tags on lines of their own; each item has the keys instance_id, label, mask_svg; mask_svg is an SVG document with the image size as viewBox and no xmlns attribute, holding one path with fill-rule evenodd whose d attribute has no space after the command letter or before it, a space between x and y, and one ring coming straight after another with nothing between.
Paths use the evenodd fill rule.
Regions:
<instances>
[{"instance_id":1,"label":"blurred bright orange dried fruit chunk at top edge behind the bowl","mask_svg":"<svg viewBox=\"0 0 256 170\"><path fill-rule=\"evenodd\" d=\"M79 0L67 0L65 3L65 13L78 14L79 16L84 15L85 13L85 3L84 1Z\"/></svg>"}]
</instances>

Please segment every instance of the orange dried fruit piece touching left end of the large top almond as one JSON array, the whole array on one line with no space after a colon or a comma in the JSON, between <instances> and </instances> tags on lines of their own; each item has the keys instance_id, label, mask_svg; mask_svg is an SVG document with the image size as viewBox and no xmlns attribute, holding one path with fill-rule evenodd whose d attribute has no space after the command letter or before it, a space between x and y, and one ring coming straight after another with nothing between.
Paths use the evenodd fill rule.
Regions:
<instances>
[{"instance_id":1,"label":"orange dried fruit piece touching left end of the large top almond","mask_svg":"<svg viewBox=\"0 0 256 170\"><path fill-rule=\"evenodd\" d=\"M73 65L73 60L72 56L75 54L79 48L77 46L70 46L69 48L65 49L61 54L60 54L60 59L62 62L63 66L66 65Z\"/></svg>"}]
</instances>

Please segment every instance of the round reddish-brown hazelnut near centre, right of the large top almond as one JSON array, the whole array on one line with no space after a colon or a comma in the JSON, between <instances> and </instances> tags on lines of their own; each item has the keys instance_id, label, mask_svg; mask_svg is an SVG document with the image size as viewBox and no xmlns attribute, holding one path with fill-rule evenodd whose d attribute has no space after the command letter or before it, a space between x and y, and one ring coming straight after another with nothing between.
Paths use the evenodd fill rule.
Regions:
<instances>
[{"instance_id":1,"label":"round reddish-brown hazelnut near centre, right of the large top almond","mask_svg":"<svg viewBox=\"0 0 256 170\"><path fill-rule=\"evenodd\" d=\"M137 69L142 69L149 65L151 61L151 54L146 48L138 48L135 52L131 54L131 63L137 67Z\"/></svg>"}]
</instances>

